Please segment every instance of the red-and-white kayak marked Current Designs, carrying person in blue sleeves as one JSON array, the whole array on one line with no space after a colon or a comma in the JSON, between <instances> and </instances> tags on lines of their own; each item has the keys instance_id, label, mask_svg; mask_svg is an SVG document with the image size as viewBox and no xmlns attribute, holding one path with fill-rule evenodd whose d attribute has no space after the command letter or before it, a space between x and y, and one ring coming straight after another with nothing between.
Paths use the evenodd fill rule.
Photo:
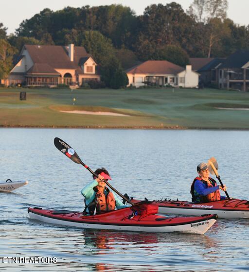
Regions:
<instances>
[{"instance_id":1,"label":"red-and-white kayak marked Current Designs, carrying person in blue sleeves","mask_svg":"<svg viewBox=\"0 0 249 272\"><path fill-rule=\"evenodd\" d=\"M132 199L132 198L131 198ZM147 199L146 199L147 200ZM141 200L132 199L133 203ZM217 214L219 218L249 218L249 201L226 199L208 203L193 203L178 200L154 200L159 206L159 213L199 216L203 213Z\"/></svg>"}]
</instances>

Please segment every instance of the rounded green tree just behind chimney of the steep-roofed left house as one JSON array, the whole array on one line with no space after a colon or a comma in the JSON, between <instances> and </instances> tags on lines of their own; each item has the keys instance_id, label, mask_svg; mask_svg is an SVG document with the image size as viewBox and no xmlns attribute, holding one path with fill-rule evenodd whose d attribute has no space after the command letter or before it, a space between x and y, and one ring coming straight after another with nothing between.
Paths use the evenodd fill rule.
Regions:
<instances>
[{"instance_id":1,"label":"rounded green tree just behind chimney of the steep-roofed left house","mask_svg":"<svg viewBox=\"0 0 249 272\"><path fill-rule=\"evenodd\" d=\"M115 53L111 40L98 31L85 31L81 45L98 64L104 64Z\"/></svg>"}]
</instances>

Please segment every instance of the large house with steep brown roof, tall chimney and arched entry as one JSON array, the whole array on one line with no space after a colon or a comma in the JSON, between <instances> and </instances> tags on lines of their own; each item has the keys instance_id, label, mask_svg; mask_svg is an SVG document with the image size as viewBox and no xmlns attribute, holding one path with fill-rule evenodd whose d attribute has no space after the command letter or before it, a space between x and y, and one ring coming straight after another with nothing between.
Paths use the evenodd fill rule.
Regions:
<instances>
[{"instance_id":1,"label":"large house with steep brown roof, tall chimney and arched entry","mask_svg":"<svg viewBox=\"0 0 249 272\"><path fill-rule=\"evenodd\" d=\"M6 85L82 85L100 81L97 64L84 47L24 45Z\"/></svg>"}]
</instances>

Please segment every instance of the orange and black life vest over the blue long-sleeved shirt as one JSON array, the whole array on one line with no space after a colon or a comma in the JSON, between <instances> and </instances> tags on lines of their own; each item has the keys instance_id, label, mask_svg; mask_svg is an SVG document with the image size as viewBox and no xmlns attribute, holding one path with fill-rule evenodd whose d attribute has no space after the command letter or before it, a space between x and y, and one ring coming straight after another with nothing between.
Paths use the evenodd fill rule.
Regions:
<instances>
[{"instance_id":1,"label":"orange and black life vest over the blue long-sleeved shirt","mask_svg":"<svg viewBox=\"0 0 249 272\"><path fill-rule=\"evenodd\" d=\"M196 198L199 198L200 199L200 202L213 202L213 201L217 201L217 200L220 200L220 191L219 190L216 190L214 191L213 193L210 193L206 196L196 196L196 192L195 192L195 182L196 180L200 180L202 183L206 184L208 187L215 187L217 186L216 184L216 181L214 179L212 179L211 177L208 178L209 181L211 183L208 183L206 181L204 181L203 179L201 179L200 177L196 177L191 185L191 194L192 194L192 197L193 197L193 201L195 202L196 201Z\"/></svg>"}]
</instances>

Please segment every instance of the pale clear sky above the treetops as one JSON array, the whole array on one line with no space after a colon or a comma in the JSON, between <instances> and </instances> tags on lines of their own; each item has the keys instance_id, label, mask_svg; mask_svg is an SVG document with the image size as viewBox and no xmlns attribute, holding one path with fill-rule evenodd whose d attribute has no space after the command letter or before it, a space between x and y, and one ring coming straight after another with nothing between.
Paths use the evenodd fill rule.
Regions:
<instances>
[{"instance_id":1,"label":"pale clear sky above the treetops","mask_svg":"<svg viewBox=\"0 0 249 272\"><path fill-rule=\"evenodd\" d=\"M1 0L0 23L7 27L7 33L15 33L19 24L33 17L44 8L50 8L53 11L63 9L64 7L82 7L82 6L100 6L110 4L122 4L130 7L137 15L142 15L144 9L151 4L167 4L173 0ZM228 17L236 24L249 25L249 0L228 0ZM175 0L186 11L193 0Z\"/></svg>"}]
</instances>

